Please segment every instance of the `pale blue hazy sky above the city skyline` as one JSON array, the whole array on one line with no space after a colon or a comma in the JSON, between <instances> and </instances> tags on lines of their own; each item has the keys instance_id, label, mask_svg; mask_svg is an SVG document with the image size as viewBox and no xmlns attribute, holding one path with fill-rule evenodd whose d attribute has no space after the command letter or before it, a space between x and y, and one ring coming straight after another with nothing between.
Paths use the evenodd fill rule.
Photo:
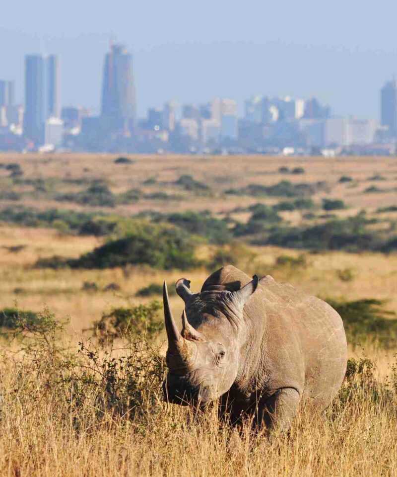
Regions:
<instances>
[{"instance_id":1,"label":"pale blue hazy sky above the city skyline","mask_svg":"<svg viewBox=\"0 0 397 477\"><path fill-rule=\"evenodd\" d=\"M138 113L164 100L316 95L378 119L397 73L397 2L378 0L2 1L0 78L23 93L23 56L57 53L63 105L99 110L109 37L133 53Z\"/></svg>"}]
</instances>

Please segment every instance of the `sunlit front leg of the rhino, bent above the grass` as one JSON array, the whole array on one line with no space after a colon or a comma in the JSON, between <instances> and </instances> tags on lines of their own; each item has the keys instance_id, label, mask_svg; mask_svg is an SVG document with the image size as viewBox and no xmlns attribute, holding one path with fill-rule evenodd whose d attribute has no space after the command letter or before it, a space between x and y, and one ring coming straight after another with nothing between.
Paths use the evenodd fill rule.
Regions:
<instances>
[{"instance_id":1,"label":"sunlit front leg of the rhino, bent above the grass","mask_svg":"<svg viewBox=\"0 0 397 477\"><path fill-rule=\"evenodd\" d=\"M299 407L300 396L294 388L278 389L265 400L259 424L265 424L267 430L288 431ZM261 415L262 414L262 415Z\"/></svg>"}]
</instances>

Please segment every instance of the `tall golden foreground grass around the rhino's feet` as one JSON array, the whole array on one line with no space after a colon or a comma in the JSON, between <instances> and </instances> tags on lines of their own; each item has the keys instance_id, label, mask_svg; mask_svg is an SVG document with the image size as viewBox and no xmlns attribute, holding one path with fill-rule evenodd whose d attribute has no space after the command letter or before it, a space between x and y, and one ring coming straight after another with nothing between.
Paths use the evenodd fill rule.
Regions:
<instances>
[{"instance_id":1,"label":"tall golden foreground grass around the rhino's feet","mask_svg":"<svg viewBox=\"0 0 397 477\"><path fill-rule=\"evenodd\" d=\"M121 387L139 375L124 412L109 391L113 381L97 371L111 358L81 361L47 338L22 355L2 355L1 476L397 475L396 364L379 381L362 360L329 409L302 408L288 435L268 439L249 420L237 430L220 423L216 407L162 402L164 369L150 347L139 348L139 372L116 365ZM131 356L131 348L123 353ZM132 358L136 366L136 351Z\"/></svg>"}]
</instances>

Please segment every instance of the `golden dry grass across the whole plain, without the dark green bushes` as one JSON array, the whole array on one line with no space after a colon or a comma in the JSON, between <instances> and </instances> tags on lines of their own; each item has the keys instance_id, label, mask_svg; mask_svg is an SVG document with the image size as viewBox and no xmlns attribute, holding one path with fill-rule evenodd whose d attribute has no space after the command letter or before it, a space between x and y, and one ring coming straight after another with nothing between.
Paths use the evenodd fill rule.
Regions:
<instances>
[{"instance_id":1,"label":"golden dry grass across the whole plain, without the dark green bushes","mask_svg":"<svg viewBox=\"0 0 397 477\"><path fill-rule=\"evenodd\" d=\"M342 200L346 207L332 211L339 218L361 210L370 219L381 217L369 225L375 233L393 229L397 220L393 158L139 156L130 164L115 164L116 158L2 155L0 191L7 194L0 194L0 209L62 208L126 217L143 211L209 210L215 217L245 223L251 205L272 206L285 197L226 191L288 180L325 182L327 187L311 192L313 202L321 207L323 199ZM10 177L10 163L18 163L22 175ZM301 167L304 172L280 172L280 167ZM193 180L179 181L184 175ZM75 201L73 194L85 191L93 180L106 184L116 197L112 207ZM365 192L373 185L379 190ZM131 189L139 189L139 197L130 194L132 203L119 203L118 195ZM158 199L160 192L168 197ZM60 194L66 200L57 200ZM379 213L382 208L387 211ZM315 220L324 220L322 213L316 209ZM280 215L296 226L309 220L299 210ZM106 269L36 266L39 259L54 255L77 258L108 239L62 227L1 224L0 310L40 312L47 307L44 318L50 323L36 334L22 329L23 339L1 338L1 476L397 476L397 349L385 349L376 339L350 342L350 356L356 361L330 409L318 415L302 409L290 436L269 442L253 435L249 422L238 437L219 424L216 409L201 414L161 401L164 332L143 344L141 338L117 341L105 351L96 348L95 340L89 342L92 332L87 330L115 307L160 299L156 292L150 297L136 293L164 279L173 284L186 276L198 291L216 268L212 257L219 250L249 273L270 273L323 298L379 299L397 312L396 253L311 253L204 240L195 252L201 264L187 271L133 264ZM179 297L171 297L171 306L175 316L181 316ZM46 321L51 313L67 321L65 330L52 328L53 318Z\"/></svg>"}]
</instances>

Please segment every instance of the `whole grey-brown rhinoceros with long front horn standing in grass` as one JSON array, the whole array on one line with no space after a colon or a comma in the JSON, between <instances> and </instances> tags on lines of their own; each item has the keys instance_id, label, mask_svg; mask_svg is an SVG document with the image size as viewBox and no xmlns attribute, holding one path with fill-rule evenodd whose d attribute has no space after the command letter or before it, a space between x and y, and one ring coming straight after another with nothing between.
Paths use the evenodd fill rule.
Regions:
<instances>
[{"instance_id":1,"label":"whole grey-brown rhinoceros with long front horn standing in grass","mask_svg":"<svg viewBox=\"0 0 397 477\"><path fill-rule=\"evenodd\" d=\"M164 282L168 337L164 399L178 404L220 398L231 422L287 430L302 402L327 407L343 381L347 344L340 316L326 302L270 275L253 279L232 265L200 293L176 284L185 302L182 331Z\"/></svg>"}]
</instances>

